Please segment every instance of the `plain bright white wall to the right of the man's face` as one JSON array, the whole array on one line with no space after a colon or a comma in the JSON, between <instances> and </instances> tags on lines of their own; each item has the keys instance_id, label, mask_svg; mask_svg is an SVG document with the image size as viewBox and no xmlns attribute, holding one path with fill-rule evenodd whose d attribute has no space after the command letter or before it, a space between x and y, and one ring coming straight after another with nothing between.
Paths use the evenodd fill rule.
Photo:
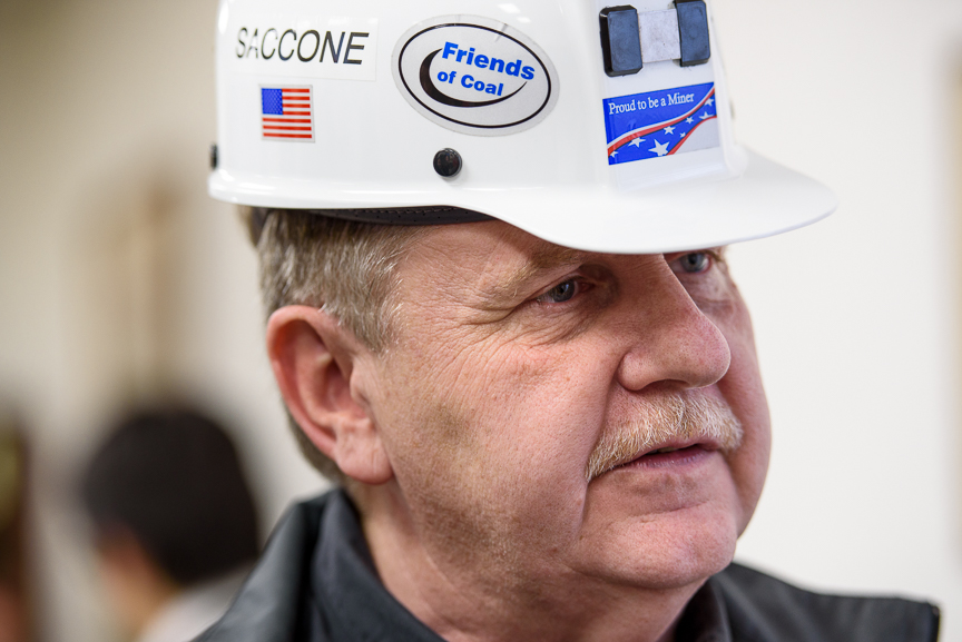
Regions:
<instances>
[{"instance_id":1,"label":"plain bright white wall to the right of the man's face","mask_svg":"<svg viewBox=\"0 0 962 642\"><path fill-rule=\"evenodd\" d=\"M775 432L739 559L932 599L962 639L962 2L719 0L718 20L739 139L841 198L732 248Z\"/></svg>"}]
</instances>

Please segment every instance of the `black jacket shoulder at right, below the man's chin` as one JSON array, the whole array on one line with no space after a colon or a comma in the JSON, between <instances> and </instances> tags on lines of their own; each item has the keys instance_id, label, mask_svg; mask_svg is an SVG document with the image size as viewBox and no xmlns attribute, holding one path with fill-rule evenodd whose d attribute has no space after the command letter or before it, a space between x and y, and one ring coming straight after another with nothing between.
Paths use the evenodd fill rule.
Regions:
<instances>
[{"instance_id":1,"label":"black jacket shoulder at right, below the man's chin","mask_svg":"<svg viewBox=\"0 0 962 642\"><path fill-rule=\"evenodd\" d=\"M711 583L742 642L934 642L939 609L901 597L814 593L732 564Z\"/></svg>"}]
</instances>

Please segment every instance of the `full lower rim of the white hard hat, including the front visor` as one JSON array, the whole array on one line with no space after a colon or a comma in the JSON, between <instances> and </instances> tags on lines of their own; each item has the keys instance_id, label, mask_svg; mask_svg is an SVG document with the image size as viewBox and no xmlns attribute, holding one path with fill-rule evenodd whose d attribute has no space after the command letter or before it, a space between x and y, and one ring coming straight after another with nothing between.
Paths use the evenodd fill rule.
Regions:
<instances>
[{"instance_id":1,"label":"full lower rim of the white hard hat, including the front visor","mask_svg":"<svg viewBox=\"0 0 962 642\"><path fill-rule=\"evenodd\" d=\"M837 207L824 185L754 151L735 148L734 169L634 191L587 186L318 192L316 184L276 188L210 175L210 195L266 207L323 210L443 205L503 220L539 238L587 251L659 254L718 247L813 224ZM303 189L297 189L301 187ZM346 197L346 198L345 198Z\"/></svg>"}]
</instances>

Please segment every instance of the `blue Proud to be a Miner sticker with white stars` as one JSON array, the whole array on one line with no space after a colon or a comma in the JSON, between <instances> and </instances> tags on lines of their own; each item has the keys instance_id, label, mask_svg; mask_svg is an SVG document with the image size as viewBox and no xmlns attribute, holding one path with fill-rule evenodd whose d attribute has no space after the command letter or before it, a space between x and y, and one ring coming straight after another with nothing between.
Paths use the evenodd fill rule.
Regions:
<instances>
[{"instance_id":1,"label":"blue Proud to be a Miner sticker with white stars","mask_svg":"<svg viewBox=\"0 0 962 642\"><path fill-rule=\"evenodd\" d=\"M608 165L720 146L715 83L606 98Z\"/></svg>"}]
</instances>

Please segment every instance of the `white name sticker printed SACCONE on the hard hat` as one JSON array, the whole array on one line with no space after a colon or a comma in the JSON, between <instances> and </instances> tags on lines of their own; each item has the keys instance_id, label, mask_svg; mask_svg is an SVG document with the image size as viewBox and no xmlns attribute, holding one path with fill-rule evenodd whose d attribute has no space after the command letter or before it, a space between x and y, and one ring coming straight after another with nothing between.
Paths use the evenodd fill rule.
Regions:
<instances>
[{"instance_id":1,"label":"white name sticker printed SACCONE on the hard hat","mask_svg":"<svg viewBox=\"0 0 962 642\"><path fill-rule=\"evenodd\" d=\"M377 59L376 18L281 17L245 20L227 40L245 73L373 81Z\"/></svg>"}]
</instances>

